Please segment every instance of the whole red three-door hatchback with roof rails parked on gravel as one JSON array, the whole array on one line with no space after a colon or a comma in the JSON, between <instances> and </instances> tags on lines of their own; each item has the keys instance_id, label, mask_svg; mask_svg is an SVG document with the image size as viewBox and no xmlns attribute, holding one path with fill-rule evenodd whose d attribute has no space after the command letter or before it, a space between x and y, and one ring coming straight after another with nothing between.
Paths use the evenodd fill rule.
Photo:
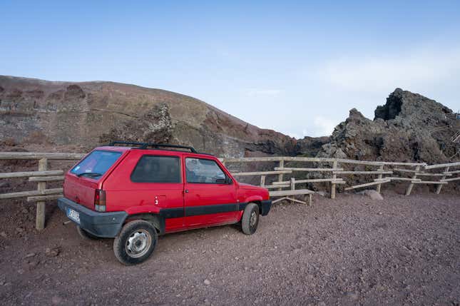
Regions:
<instances>
[{"instance_id":1,"label":"whole red three-door hatchback with roof rails parked on gravel","mask_svg":"<svg viewBox=\"0 0 460 306\"><path fill-rule=\"evenodd\" d=\"M78 233L115 238L126 265L146 260L165 233L240 223L252 235L272 204L266 189L238 183L215 156L156 143L94 149L66 173L63 195L58 206Z\"/></svg>"}]
</instances>

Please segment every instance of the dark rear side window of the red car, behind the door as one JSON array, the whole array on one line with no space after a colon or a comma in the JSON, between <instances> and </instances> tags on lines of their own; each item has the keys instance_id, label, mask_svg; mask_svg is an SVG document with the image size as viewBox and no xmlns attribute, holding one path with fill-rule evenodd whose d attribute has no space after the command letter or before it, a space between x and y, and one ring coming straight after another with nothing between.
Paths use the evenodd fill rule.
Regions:
<instances>
[{"instance_id":1,"label":"dark rear side window of the red car, behind the door","mask_svg":"<svg viewBox=\"0 0 460 306\"><path fill-rule=\"evenodd\" d=\"M131 173L135 183L180 183L180 159L143 155Z\"/></svg>"}]
</instances>

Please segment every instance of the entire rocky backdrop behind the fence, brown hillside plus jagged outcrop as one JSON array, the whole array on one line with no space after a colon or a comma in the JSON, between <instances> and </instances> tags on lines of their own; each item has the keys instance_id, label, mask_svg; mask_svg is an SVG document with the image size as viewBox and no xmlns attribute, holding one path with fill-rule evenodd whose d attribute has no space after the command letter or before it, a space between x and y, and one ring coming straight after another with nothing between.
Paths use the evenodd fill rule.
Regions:
<instances>
[{"instance_id":1,"label":"entire rocky backdrop behind the fence, brown hillside plus jagged outcrop","mask_svg":"<svg viewBox=\"0 0 460 306\"><path fill-rule=\"evenodd\" d=\"M330 137L300 140L241 121L189 96L113 82L0 76L0 145L78 151L113 140L175 143L219 156L307 155L440 163L460 158L455 114L397 88L374 120L352 109ZM39 148L40 150L40 148Z\"/></svg>"}]
</instances>

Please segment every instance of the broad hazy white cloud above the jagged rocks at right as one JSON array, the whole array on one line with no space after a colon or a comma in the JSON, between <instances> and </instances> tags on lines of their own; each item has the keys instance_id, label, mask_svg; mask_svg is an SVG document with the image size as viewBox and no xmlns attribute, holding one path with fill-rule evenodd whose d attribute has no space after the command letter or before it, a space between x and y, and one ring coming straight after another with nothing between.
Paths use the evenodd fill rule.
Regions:
<instances>
[{"instance_id":1,"label":"broad hazy white cloud above the jagged rocks at right","mask_svg":"<svg viewBox=\"0 0 460 306\"><path fill-rule=\"evenodd\" d=\"M414 51L402 56L362 56L333 59L317 76L346 91L382 91L387 88L435 83L460 69L460 49Z\"/></svg>"}]
</instances>

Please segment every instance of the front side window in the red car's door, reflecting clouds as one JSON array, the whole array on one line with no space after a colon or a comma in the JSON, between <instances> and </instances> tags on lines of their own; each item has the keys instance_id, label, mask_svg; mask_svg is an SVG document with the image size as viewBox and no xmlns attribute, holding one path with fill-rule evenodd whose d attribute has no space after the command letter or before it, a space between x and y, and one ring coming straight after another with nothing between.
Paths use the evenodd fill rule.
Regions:
<instances>
[{"instance_id":1,"label":"front side window in the red car's door, reflecting clouds","mask_svg":"<svg viewBox=\"0 0 460 306\"><path fill-rule=\"evenodd\" d=\"M214 160L185 158L187 183L225 183L225 173Z\"/></svg>"}]
</instances>

